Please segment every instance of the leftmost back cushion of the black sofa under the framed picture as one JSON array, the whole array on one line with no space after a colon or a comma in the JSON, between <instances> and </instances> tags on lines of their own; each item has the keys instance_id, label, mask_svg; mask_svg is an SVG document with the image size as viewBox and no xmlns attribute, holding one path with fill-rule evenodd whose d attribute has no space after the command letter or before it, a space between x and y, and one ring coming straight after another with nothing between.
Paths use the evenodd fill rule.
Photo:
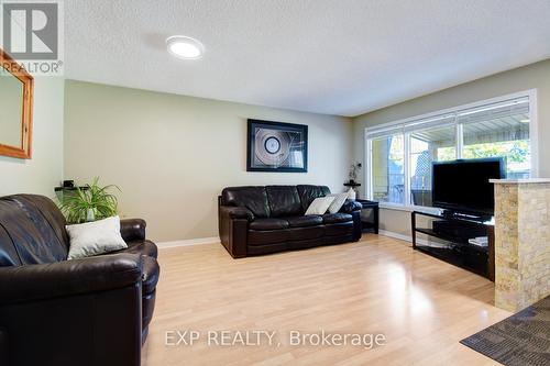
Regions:
<instances>
[{"instance_id":1,"label":"leftmost back cushion of the black sofa under the framed picture","mask_svg":"<svg viewBox=\"0 0 550 366\"><path fill-rule=\"evenodd\" d=\"M264 187L228 187L221 191L223 206L244 206L256 218L271 215L270 202Z\"/></svg>"}]
</instances>

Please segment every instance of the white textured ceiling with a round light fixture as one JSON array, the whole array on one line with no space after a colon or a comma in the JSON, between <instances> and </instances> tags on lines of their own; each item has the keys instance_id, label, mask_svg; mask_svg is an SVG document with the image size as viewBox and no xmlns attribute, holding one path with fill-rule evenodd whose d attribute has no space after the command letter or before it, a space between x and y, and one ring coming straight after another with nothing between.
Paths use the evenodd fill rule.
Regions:
<instances>
[{"instance_id":1,"label":"white textured ceiling with a round light fixture","mask_svg":"<svg viewBox=\"0 0 550 366\"><path fill-rule=\"evenodd\" d=\"M66 77L356 115L550 57L550 0L70 0ZM206 46L172 57L169 35Z\"/></svg>"}]
</instances>

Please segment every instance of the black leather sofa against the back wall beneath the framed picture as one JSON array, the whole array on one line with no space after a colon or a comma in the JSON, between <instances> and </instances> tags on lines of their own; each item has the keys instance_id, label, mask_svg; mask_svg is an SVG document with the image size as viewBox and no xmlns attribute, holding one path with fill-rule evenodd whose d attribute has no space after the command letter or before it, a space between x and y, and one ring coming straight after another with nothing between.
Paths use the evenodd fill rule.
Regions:
<instances>
[{"instance_id":1,"label":"black leather sofa against the back wall beneath the framed picture","mask_svg":"<svg viewBox=\"0 0 550 366\"><path fill-rule=\"evenodd\" d=\"M286 249L356 242L361 204L346 201L340 212L304 215L326 186L229 187L218 198L220 240L234 258Z\"/></svg>"}]
</instances>

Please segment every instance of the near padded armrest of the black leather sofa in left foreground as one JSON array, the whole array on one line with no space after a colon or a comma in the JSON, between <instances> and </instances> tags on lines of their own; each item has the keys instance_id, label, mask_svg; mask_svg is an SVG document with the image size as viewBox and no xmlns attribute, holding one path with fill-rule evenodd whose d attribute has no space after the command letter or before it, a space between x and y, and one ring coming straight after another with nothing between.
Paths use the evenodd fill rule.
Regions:
<instances>
[{"instance_id":1,"label":"near padded armrest of the black leather sofa in left foreground","mask_svg":"<svg viewBox=\"0 0 550 366\"><path fill-rule=\"evenodd\" d=\"M0 267L0 304L99 292L142 280L135 254L112 254L40 265Z\"/></svg>"}]
</instances>

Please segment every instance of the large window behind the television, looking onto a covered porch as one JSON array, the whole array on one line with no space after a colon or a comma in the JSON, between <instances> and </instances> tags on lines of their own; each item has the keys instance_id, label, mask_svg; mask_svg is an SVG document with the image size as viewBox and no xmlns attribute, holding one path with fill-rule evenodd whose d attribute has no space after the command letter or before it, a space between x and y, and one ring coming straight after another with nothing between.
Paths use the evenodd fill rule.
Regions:
<instances>
[{"instance_id":1,"label":"large window behind the television, looking onto a covered porch","mask_svg":"<svg viewBox=\"0 0 550 366\"><path fill-rule=\"evenodd\" d=\"M504 156L507 178L531 176L530 106L525 93L366 130L367 197L431 207L433 162Z\"/></svg>"}]
</instances>

